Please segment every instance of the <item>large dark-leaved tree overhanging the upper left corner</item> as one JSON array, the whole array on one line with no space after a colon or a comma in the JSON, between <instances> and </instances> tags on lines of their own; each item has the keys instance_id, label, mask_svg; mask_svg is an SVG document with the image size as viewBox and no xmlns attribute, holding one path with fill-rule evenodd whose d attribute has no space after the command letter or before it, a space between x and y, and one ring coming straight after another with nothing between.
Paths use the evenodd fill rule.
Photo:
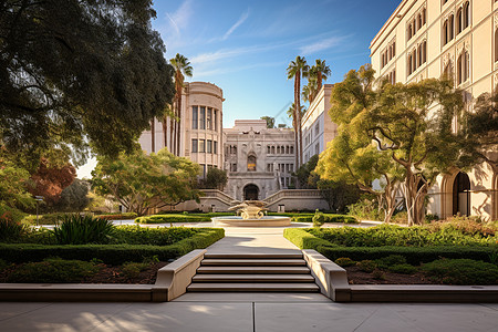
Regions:
<instances>
[{"instance_id":1,"label":"large dark-leaved tree overhanging the upper left corner","mask_svg":"<svg viewBox=\"0 0 498 332\"><path fill-rule=\"evenodd\" d=\"M2 144L37 163L52 147L83 163L87 142L134 149L174 94L154 17L148 0L2 1Z\"/></svg>"}]
</instances>

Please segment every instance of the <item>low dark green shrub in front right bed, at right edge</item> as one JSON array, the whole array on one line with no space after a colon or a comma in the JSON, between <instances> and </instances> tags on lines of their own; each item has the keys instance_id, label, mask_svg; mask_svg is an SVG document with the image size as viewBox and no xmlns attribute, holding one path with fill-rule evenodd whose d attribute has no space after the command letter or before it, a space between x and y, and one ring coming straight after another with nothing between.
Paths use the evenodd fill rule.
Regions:
<instances>
[{"instance_id":1,"label":"low dark green shrub in front right bed, at right edge","mask_svg":"<svg viewBox=\"0 0 498 332\"><path fill-rule=\"evenodd\" d=\"M438 259L422 270L433 280L448 284L497 284L498 267L473 259Z\"/></svg>"}]
</instances>

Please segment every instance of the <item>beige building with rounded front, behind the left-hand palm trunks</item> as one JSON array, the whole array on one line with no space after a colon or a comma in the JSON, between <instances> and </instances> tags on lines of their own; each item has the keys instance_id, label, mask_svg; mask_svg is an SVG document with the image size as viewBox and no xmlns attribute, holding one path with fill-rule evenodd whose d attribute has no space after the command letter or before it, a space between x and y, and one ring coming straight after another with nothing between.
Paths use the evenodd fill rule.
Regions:
<instances>
[{"instance_id":1,"label":"beige building with rounded front, behind the left-hand palm trunks","mask_svg":"<svg viewBox=\"0 0 498 332\"><path fill-rule=\"evenodd\" d=\"M221 168L224 165L222 102L222 91L215 84L185 83L181 95L179 156L198 163L203 175L206 175L210 167ZM165 146L173 151L169 126L169 120L165 125L156 120L154 139L151 131L145 131L138 139L142 148L147 153L157 152Z\"/></svg>"}]
</instances>

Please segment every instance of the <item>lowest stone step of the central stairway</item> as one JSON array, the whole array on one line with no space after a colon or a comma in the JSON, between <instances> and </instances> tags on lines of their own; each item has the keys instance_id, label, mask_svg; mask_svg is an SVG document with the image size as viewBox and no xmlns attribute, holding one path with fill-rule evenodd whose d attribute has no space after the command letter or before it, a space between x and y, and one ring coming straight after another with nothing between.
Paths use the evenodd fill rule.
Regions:
<instances>
[{"instance_id":1,"label":"lowest stone step of the central stairway","mask_svg":"<svg viewBox=\"0 0 498 332\"><path fill-rule=\"evenodd\" d=\"M195 282L189 292L318 292L315 283L231 283Z\"/></svg>"}]
</instances>

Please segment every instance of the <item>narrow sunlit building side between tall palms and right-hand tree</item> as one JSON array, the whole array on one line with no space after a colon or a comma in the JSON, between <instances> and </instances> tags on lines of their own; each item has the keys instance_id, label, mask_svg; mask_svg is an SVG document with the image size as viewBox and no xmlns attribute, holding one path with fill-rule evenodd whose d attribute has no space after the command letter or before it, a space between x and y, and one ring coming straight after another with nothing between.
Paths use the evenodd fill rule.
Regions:
<instances>
[{"instance_id":1,"label":"narrow sunlit building side between tall palms and right-hand tree","mask_svg":"<svg viewBox=\"0 0 498 332\"><path fill-rule=\"evenodd\" d=\"M332 87L333 84L323 84L302 117L302 164L322 153L326 143L338 135L338 125L329 116Z\"/></svg>"}]
</instances>

